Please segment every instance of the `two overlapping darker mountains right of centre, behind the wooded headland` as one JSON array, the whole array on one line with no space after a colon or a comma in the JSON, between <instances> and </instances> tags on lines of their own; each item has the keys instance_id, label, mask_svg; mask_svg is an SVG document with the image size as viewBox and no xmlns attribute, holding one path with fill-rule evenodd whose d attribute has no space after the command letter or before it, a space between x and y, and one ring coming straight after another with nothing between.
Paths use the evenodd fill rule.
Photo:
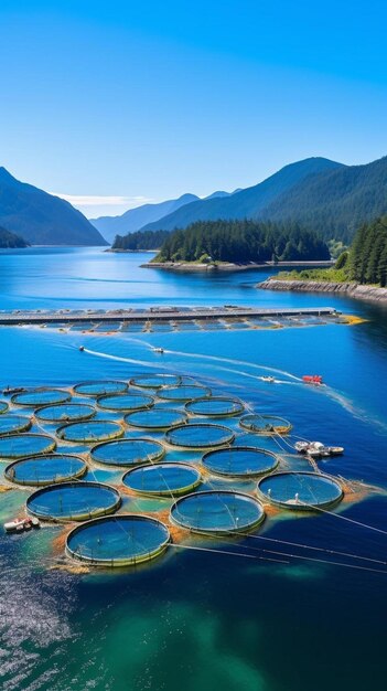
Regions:
<instances>
[{"instance_id":1,"label":"two overlapping darker mountains right of centre, behind the wooded headland","mask_svg":"<svg viewBox=\"0 0 387 691\"><path fill-rule=\"evenodd\" d=\"M196 221L295 221L325 240L350 243L363 223L387 214L387 157L365 166L309 158L232 195L191 201L141 231L173 231Z\"/></svg>"}]
</instances>

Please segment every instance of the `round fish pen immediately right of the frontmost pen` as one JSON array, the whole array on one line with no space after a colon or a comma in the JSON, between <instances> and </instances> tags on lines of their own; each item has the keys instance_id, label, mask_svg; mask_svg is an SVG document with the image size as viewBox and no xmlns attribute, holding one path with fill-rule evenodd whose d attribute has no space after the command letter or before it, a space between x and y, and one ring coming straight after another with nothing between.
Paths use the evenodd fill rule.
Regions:
<instances>
[{"instance_id":1,"label":"round fish pen immediately right of the frontmost pen","mask_svg":"<svg viewBox=\"0 0 387 691\"><path fill-rule=\"evenodd\" d=\"M244 533L265 520L262 506L248 495L227 490L196 492L178 499L171 521L197 533Z\"/></svg>"}]
</instances>

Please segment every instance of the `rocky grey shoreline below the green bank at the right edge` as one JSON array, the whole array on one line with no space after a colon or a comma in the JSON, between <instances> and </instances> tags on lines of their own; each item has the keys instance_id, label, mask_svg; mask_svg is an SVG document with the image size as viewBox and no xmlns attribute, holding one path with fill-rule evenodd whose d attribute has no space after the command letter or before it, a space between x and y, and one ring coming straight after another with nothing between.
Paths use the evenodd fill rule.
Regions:
<instances>
[{"instance_id":1,"label":"rocky grey shoreline below the green bank at the right edge","mask_svg":"<svg viewBox=\"0 0 387 691\"><path fill-rule=\"evenodd\" d=\"M268 278L257 284L262 290L289 290L292 293L338 293L358 300L387 302L387 288L363 286L355 283L330 283L325 280L280 280Z\"/></svg>"}]
</instances>

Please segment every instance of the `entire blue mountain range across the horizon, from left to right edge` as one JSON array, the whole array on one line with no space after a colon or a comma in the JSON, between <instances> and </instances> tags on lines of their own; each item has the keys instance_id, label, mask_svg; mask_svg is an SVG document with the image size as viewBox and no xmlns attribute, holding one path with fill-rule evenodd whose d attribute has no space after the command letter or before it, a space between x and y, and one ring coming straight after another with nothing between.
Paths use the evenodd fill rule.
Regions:
<instances>
[{"instance_id":1,"label":"entire blue mountain range across the horizon, from left to right edge","mask_svg":"<svg viewBox=\"0 0 387 691\"><path fill-rule=\"evenodd\" d=\"M148 232L171 232L219 219L297 222L324 240L350 243L363 223L386 214L387 157L365 166L309 158L244 190L217 191L206 199L183 194L121 216L103 216L93 224L68 202L0 168L0 226L33 245L106 245L105 237L111 243L116 235L142 231L149 246Z\"/></svg>"}]
</instances>

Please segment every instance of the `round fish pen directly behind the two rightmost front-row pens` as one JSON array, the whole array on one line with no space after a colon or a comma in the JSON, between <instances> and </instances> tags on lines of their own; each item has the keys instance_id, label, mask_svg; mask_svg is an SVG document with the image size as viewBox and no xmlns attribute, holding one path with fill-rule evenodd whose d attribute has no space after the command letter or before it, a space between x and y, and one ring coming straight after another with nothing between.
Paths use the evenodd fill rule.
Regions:
<instances>
[{"instance_id":1,"label":"round fish pen directly behind the two rightmost front-row pens","mask_svg":"<svg viewBox=\"0 0 387 691\"><path fill-rule=\"evenodd\" d=\"M278 465L278 457L264 448L236 446L208 451L203 456L202 464L215 475L249 478L271 472Z\"/></svg>"}]
</instances>

